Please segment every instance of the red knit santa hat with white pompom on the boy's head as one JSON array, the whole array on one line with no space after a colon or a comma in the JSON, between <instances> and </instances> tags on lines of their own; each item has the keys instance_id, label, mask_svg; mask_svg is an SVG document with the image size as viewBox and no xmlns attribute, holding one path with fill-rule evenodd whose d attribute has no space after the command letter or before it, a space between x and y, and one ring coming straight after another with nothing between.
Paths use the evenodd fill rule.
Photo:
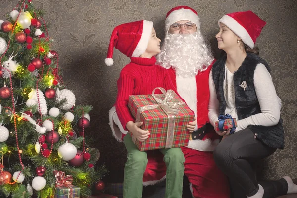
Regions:
<instances>
[{"instance_id":1,"label":"red knit santa hat with white pompom on the boy's head","mask_svg":"<svg viewBox=\"0 0 297 198\"><path fill-rule=\"evenodd\" d=\"M153 28L151 21L135 21L124 23L114 28L110 37L105 64L113 65L113 47L128 57L139 57L148 46L148 41Z\"/></svg>"}]
</instances>

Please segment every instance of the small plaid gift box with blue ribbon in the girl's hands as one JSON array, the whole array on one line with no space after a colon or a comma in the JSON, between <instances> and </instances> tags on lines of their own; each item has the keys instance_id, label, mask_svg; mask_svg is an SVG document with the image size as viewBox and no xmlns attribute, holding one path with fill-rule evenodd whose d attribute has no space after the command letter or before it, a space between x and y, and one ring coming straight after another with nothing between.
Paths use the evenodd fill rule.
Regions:
<instances>
[{"instance_id":1,"label":"small plaid gift box with blue ribbon in the girl's hands","mask_svg":"<svg viewBox=\"0 0 297 198\"><path fill-rule=\"evenodd\" d=\"M231 115L220 115L219 121L215 122L215 127L217 131L226 131L228 129L231 129L230 133L234 133L236 127L237 127L237 121L236 118L232 118Z\"/></svg>"}]
</instances>

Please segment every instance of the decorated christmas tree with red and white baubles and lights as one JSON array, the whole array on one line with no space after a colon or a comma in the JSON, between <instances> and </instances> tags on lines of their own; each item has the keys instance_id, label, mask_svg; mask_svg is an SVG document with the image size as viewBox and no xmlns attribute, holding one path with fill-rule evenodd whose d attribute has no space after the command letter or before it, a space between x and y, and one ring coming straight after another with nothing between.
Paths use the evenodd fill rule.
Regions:
<instances>
[{"instance_id":1,"label":"decorated christmas tree with red and white baubles and lights","mask_svg":"<svg viewBox=\"0 0 297 198\"><path fill-rule=\"evenodd\" d=\"M0 20L0 197L51 197L62 172L90 195L107 172L85 134L92 106L75 105L51 42L31 0Z\"/></svg>"}]
</instances>

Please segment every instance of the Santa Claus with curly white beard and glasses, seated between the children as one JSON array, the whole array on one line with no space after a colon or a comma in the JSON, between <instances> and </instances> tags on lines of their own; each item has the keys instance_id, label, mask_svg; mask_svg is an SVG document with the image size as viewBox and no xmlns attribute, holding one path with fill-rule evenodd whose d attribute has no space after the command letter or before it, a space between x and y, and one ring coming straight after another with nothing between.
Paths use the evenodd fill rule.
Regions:
<instances>
[{"instance_id":1,"label":"Santa Claus with curly white beard and glasses, seated between the children","mask_svg":"<svg viewBox=\"0 0 297 198\"><path fill-rule=\"evenodd\" d=\"M195 198L229 198L227 177L217 168L213 150L219 137L208 121L208 77L214 58L200 31L197 12L188 6L171 9L165 20L165 39L157 56L160 65L169 70L180 96L195 112L196 131L189 145L182 147L185 155L185 175ZM121 126L115 108L109 111L109 121L116 139L121 141L127 131ZM166 165L160 152L148 151L144 185L155 184L166 177Z\"/></svg>"}]
</instances>

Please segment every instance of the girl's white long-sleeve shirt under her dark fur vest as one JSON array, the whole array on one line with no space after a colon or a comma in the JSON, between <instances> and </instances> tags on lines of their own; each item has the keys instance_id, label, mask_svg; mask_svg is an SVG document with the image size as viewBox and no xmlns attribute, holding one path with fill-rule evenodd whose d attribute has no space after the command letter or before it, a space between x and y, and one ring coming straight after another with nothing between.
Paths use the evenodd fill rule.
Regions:
<instances>
[{"instance_id":1,"label":"girl's white long-sleeve shirt under her dark fur vest","mask_svg":"<svg viewBox=\"0 0 297 198\"><path fill-rule=\"evenodd\" d=\"M233 73L225 66L224 96L226 100L225 114L230 114L237 119L236 131L247 128L248 125L274 126L280 119L281 100L276 94L272 78L265 65L258 64L254 72L254 87L260 104L261 113L238 120L235 107ZM219 101L217 100L212 72L209 75L210 99L208 104L208 117L210 123L215 126L219 117Z\"/></svg>"}]
</instances>

